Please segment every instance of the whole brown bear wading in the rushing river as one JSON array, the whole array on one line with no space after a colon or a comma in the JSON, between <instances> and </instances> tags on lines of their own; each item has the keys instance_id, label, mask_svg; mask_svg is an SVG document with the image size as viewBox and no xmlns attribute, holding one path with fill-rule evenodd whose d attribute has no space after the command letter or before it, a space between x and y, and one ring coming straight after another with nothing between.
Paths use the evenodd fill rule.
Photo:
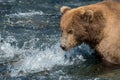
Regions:
<instances>
[{"instance_id":1,"label":"whole brown bear wading in the rushing river","mask_svg":"<svg viewBox=\"0 0 120 80\"><path fill-rule=\"evenodd\" d=\"M60 47L69 50L87 43L102 60L120 64L120 2L106 0L71 9L61 7L62 40Z\"/></svg>"}]
</instances>

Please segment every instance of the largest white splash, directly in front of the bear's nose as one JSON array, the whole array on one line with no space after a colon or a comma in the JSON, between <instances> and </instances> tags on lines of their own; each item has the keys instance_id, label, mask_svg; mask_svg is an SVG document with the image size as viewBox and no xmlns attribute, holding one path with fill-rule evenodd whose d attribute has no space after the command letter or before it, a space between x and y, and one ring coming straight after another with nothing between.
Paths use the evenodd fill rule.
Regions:
<instances>
[{"instance_id":1,"label":"largest white splash, directly in front of the bear's nose","mask_svg":"<svg viewBox=\"0 0 120 80\"><path fill-rule=\"evenodd\" d=\"M44 70L50 70L55 65L70 65L68 60L65 60L65 53L57 47L46 48L43 51L34 50L32 55L26 56L24 59L14 64L11 76L16 76L20 71L24 73L35 73Z\"/></svg>"}]
</instances>

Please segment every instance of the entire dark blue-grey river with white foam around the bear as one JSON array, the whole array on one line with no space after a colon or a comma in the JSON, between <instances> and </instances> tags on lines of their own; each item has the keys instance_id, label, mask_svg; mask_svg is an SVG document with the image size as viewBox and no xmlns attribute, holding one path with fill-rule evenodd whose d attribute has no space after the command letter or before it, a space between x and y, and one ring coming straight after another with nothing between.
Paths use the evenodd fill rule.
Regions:
<instances>
[{"instance_id":1,"label":"entire dark blue-grey river with white foam around the bear","mask_svg":"<svg viewBox=\"0 0 120 80\"><path fill-rule=\"evenodd\" d=\"M78 7L100 0L0 0L0 80L119 80L87 45L60 49L63 5Z\"/></svg>"}]
</instances>

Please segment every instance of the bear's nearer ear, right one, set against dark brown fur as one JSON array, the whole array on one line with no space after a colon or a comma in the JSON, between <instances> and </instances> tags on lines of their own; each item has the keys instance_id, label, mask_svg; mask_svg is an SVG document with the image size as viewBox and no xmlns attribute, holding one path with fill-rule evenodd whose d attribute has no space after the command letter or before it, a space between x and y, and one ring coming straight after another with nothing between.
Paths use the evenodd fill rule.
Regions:
<instances>
[{"instance_id":1,"label":"bear's nearer ear, right one, set against dark brown fur","mask_svg":"<svg viewBox=\"0 0 120 80\"><path fill-rule=\"evenodd\" d=\"M91 22L94 18L94 12L92 10L86 10L83 13L82 18L87 22Z\"/></svg>"}]
</instances>

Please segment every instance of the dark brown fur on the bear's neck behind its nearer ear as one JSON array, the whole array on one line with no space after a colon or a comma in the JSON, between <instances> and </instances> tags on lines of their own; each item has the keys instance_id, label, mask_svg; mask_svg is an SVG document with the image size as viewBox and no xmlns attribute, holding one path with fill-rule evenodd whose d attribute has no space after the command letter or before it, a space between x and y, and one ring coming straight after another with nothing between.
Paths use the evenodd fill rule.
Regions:
<instances>
[{"instance_id":1,"label":"dark brown fur on the bear's neck behind its nearer ear","mask_svg":"<svg viewBox=\"0 0 120 80\"><path fill-rule=\"evenodd\" d=\"M90 22L86 26L86 30L88 33L88 39L86 43L88 43L91 48L95 48L103 39L103 29L105 27L105 19L102 17L99 19L96 17L94 21Z\"/></svg>"}]
</instances>

